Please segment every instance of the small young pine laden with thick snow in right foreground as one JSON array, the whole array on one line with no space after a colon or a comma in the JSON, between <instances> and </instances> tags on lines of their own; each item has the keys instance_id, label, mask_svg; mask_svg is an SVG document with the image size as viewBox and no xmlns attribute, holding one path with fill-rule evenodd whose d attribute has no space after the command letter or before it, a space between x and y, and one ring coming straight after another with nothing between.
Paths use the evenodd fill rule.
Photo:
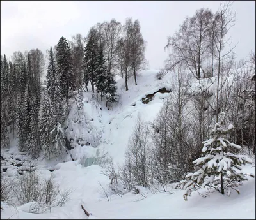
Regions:
<instances>
[{"instance_id":1,"label":"small young pine laden with thick snow in right foreground","mask_svg":"<svg viewBox=\"0 0 256 220\"><path fill-rule=\"evenodd\" d=\"M223 113L220 115L224 117ZM179 186L186 190L185 200L191 196L192 191L200 187L209 187L221 194L227 191L227 196L230 196L231 189L239 186L242 181L248 180L246 177L248 174L241 171L241 165L252 163L252 160L237 154L241 146L230 143L225 138L232 129L234 127L231 124L225 128L221 119L211 131L212 138L203 142L202 157L193 161L198 170L195 173L189 173L186 176L188 180L179 183ZM249 175L254 177L252 174ZM239 193L237 189L234 190Z\"/></svg>"}]
</instances>

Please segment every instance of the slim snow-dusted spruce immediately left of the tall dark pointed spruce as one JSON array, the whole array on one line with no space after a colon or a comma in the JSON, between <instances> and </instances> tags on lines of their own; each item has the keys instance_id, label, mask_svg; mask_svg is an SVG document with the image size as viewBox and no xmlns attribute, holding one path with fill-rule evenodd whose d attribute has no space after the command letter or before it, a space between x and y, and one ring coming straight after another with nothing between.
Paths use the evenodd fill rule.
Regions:
<instances>
[{"instance_id":1,"label":"slim snow-dusted spruce immediately left of the tall dark pointed spruce","mask_svg":"<svg viewBox=\"0 0 256 220\"><path fill-rule=\"evenodd\" d=\"M61 117L61 108L62 108L62 95L60 92L60 78L58 77L56 71L56 63L54 61L54 56L52 52L52 47L49 52L49 64L47 69L47 86L46 91L51 99L51 103L54 107L54 112L56 114L56 120Z\"/></svg>"}]
</instances>

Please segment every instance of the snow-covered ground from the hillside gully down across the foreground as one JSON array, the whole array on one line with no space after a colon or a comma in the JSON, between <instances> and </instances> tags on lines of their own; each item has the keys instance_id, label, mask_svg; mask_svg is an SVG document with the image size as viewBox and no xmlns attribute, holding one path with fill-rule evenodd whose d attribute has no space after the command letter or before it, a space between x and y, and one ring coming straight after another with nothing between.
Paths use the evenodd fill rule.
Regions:
<instances>
[{"instance_id":1,"label":"snow-covered ground from the hillside gully down across the foreground","mask_svg":"<svg viewBox=\"0 0 256 220\"><path fill-rule=\"evenodd\" d=\"M134 79L129 80L128 91L125 91L124 79L118 79L120 100L109 108L106 108L105 101L102 105L93 102L90 87L89 92L84 92L82 113L78 115L76 103L72 105L66 126L70 135L68 138L74 138L74 149L61 158L46 161L40 157L36 161L37 172L40 172L42 177L47 178L52 174L61 189L72 190L65 207L54 207L51 213L31 214L26 212L26 205L16 208L1 205L1 219L87 219L81 204L92 213L88 219L255 219L253 178L239 187L240 195L233 191L230 197L211 193L204 198L194 192L188 201L184 201L184 191L173 189L170 185L166 193L140 188L141 194L127 193L122 198L112 195L109 196L110 201L107 200L102 187L107 189L110 180L104 168L104 159L113 158L115 166L124 163L127 143L138 114L145 121L153 121L163 105L164 98L169 94L157 93L148 104L143 104L141 98L163 87L172 90L169 84L171 76L168 74L162 80L157 80L157 71L141 71L138 85L134 85ZM10 137L12 140L12 135ZM24 162L24 165L17 167L17 171L10 167L12 159L19 158L22 161L24 158L24 155L17 152L16 139L8 152L1 152L1 156L5 158L11 154L13 158L10 158L4 167L10 176L19 172L20 167L28 165ZM70 155L74 161L71 161ZM94 165L81 165L83 156L87 158L86 165ZM244 172L255 175L255 164L246 165L243 169ZM201 193L205 193L204 189Z\"/></svg>"}]
</instances>

